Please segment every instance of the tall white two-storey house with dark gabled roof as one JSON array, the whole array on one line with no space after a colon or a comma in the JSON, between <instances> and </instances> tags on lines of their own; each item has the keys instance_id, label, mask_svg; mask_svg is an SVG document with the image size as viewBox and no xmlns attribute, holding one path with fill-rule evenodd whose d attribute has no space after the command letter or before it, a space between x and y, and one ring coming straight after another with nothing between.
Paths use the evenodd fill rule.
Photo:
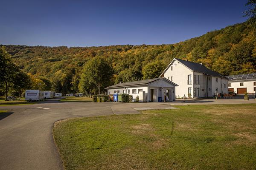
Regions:
<instances>
[{"instance_id":1,"label":"tall white two-storey house with dark gabled roof","mask_svg":"<svg viewBox=\"0 0 256 170\"><path fill-rule=\"evenodd\" d=\"M175 82L176 96L212 97L217 93L228 93L228 79L202 64L174 58L160 77Z\"/></svg>"}]
</instances>

